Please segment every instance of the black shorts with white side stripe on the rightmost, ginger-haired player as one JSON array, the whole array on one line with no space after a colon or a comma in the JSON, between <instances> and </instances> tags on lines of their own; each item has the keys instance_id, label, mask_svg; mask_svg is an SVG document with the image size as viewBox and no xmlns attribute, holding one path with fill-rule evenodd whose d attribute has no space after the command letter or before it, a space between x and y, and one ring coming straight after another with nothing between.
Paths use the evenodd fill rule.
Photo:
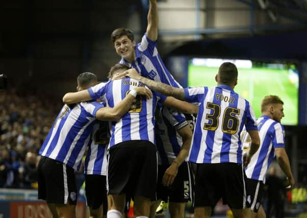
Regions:
<instances>
[{"instance_id":1,"label":"black shorts with white side stripe on the rightmost, ginger-haired player","mask_svg":"<svg viewBox=\"0 0 307 218\"><path fill-rule=\"evenodd\" d=\"M250 208L255 213L258 212L261 205L263 194L263 182L254 179L245 178L246 187L246 207Z\"/></svg>"}]
</instances>

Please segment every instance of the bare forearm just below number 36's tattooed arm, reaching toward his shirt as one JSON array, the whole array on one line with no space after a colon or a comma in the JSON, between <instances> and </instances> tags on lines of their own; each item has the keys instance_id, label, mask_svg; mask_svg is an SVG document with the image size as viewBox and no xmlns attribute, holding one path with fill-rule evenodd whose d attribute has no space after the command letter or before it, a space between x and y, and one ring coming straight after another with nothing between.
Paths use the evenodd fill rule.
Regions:
<instances>
[{"instance_id":1,"label":"bare forearm just below number 36's tattooed arm, reaching toward his shirt","mask_svg":"<svg viewBox=\"0 0 307 218\"><path fill-rule=\"evenodd\" d=\"M171 96L168 96L165 101L163 102L163 105L171 107L177 111L180 111L182 113L188 113L188 114L195 114L198 113L198 107L188 103L184 102L178 99L175 99Z\"/></svg>"}]
</instances>

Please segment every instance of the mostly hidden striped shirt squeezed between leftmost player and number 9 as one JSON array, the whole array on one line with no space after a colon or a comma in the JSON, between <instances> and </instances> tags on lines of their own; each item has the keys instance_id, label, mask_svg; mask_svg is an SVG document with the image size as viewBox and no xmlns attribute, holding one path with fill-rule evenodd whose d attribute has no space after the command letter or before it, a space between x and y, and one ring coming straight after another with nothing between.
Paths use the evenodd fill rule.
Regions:
<instances>
[{"instance_id":1,"label":"mostly hidden striped shirt squeezed between leftmost player and number 9","mask_svg":"<svg viewBox=\"0 0 307 218\"><path fill-rule=\"evenodd\" d=\"M96 120L84 162L84 174L107 175L107 149L109 141L109 122Z\"/></svg>"}]
</instances>

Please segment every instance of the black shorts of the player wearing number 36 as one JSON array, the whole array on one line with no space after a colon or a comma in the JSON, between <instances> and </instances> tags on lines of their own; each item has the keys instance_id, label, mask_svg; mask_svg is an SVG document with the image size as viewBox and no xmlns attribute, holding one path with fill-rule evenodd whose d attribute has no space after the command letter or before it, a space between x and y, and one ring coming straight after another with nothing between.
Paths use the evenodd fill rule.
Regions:
<instances>
[{"instance_id":1,"label":"black shorts of the player wearing number 36","mask_svg":"<svg viewBox=\"0 0 307 218\"><path fill-rule=\"evenodd\" d=\"M194 207L213 207L222 198L232 209L246 202L243 166L238 163L198 163Z\"/></svg>"}]
</instances>

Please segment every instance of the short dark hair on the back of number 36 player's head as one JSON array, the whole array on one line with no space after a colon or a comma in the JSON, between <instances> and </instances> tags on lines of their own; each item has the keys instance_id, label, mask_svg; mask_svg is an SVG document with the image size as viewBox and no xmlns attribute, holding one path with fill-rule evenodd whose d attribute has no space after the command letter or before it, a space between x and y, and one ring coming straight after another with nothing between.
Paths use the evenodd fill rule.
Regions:
<instances>
[{"instance_id":1,"label":"short dark hair on the back of number 36 player's head","mask_svg":"<svg viewBox=\"0 0 307 218\"><path fill-rule=\"evenodd\" d=\"M224 62L219 67L218 77L221 84L232 85L238 78L238 69L231 62Z\"/></svg>"}]
</instances>

